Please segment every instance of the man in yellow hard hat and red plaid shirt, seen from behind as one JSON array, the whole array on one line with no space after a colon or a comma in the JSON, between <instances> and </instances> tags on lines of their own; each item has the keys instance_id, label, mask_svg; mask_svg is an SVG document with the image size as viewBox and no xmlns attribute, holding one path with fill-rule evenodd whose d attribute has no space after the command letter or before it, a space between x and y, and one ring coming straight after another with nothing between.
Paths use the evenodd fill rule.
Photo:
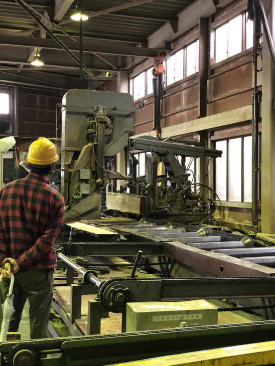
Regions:
<instances>
[{"instance_id":1,"label":"man in yellow hard hat and red plaid shirt, seen from behind","mask_svg":"<svg viewBox=\"0 0 275 366\"><path fill-rule=\"evenodd\" d=\"M18 331L27 298L30 302L31 339L47 337L57 258L54 241L59 234L64 199L48 184L55 161L55 145L47 138L34 141L27 156L31 172L0 191L0 261L4 281L0 302L15 274L14 307L9 331ZM1 265L1 264L0 264ZM2 309L0 307L2 322Z\"/></svg>"}]
</instances>

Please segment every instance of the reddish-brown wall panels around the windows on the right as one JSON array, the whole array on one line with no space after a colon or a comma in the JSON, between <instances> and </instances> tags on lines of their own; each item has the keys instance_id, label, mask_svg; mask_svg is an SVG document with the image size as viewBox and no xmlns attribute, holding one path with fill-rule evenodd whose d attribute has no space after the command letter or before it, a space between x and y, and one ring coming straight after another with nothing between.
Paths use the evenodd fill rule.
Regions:
<instances>
[{"instance_id":1,"label":"reddish-brown wall panels around the windows on the right","mask_svg":"<svg viewBox=\"0 0 275 366\"><path fill-rule=\"evenodd\" d=\"M216 13L209 19L210 28L219 26L232 19L240 12L245 11L247 2L239 0L226 7L223 11ZM210 33L209 33L210 34ZM198 27L193 28L186 34L179 37L172 43L173 54L178 49L188 45L190 42L198 39ZM209 42L210 43L210 42ZM151 67L153 64L151 65ZM133 77L150 65L147 63L137 65L130 73ZM218 63L211 62L209 57L208 77L207 77L207 116L213 116L217 113L234 110L236 108L250 106L253 93L253 68L252 68L252 49L246 49L234 56L231 56ZM261 80L261 73L258 73L258 81ZM259 85L260 87L260 85ZM260 88L259 88L260 89ZM137 111L134 115L134 135L145 134L152 131L154 127L154 106L153 96L147 95L143 98L144 108L140 109L141 100L135 100L134 106ZM163 118L161 127L181 125L177 130L178 135L185 135L184 122L196 120L199 116L199 73L190 75L174 84L164 87L163 97ZM205 126L207 130L207 126ZM240 122L230 126L226 125L216 130L209 131L210 136L217 132L220 139L228 136L242 136L251 134L251 121ZM196 123L194 122L194 133L196 132ZM217 139L217 138L214 138ZM249 153L249 152L248 152ZM214 174L214 169L210 171ZM214 182L213 176L212 180ZM239 203L238 208L232 208L226 202L223 202L225 220L230 222L251 222L251 208ZM250 205L251 206L251 205ZM218 215L217 215L218 216Z\"/></svg>"}]
</instances>

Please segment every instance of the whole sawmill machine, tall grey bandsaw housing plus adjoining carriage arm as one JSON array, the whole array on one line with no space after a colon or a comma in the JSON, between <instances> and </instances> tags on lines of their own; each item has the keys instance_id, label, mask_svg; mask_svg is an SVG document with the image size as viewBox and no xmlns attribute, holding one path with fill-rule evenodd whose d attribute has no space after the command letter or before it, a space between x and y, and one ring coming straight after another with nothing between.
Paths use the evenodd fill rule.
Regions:
<instances>
[{"instance_id":1,"label":"whole sawmill machine, tall grey bandsaw housing plus adjoining carriage arm","mask_svg":"<svg viewBox=\"0 0 275 366\"><path fill-rule=\"evenodd\" d=\"M106 191L120 191L117 179L126 181L125 191L130 194L151 199L151 209L145 213L151 217L196 224L214 213L215 198L206 197L191 184L185 158L218 157L222 151L152 136L129 138L134 108L133 98L126 93L72 89L64 95L62 108L61 193L65 198L65 223L99 219ZM121 151L126 155L129 175L117 172L116 155ZM131 158L135 151L147 152L144 178L136 177L136 164ZM160 163L166 172L161 176Z\"/></svg>"}]
</instances>

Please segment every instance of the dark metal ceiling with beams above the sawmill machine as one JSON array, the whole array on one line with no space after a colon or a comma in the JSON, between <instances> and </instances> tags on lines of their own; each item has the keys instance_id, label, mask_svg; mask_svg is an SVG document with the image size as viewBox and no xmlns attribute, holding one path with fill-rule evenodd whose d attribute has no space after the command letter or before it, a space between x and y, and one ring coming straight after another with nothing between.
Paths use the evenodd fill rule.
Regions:
<instances>
[{"instance_id":1,"label":"dark metal ceiling with beams above the sawmill machine","mask_svg":"<svg viewBox=\"0 0 275 366\"><path fill-rule=\"evenodd\" d=\"M154 57L148 37L167 23L176 29L177 15L194 1L84 0L89 15L83 22L84 65L94 75L109 71L115 76L118 69L129 67L129 57L131 67ZM81 87L77 62L37 22L79 58L79 23L70 19L76 5L73 0L0 0L0 82ZM44 61L39 68L30 64L37 47Z\"/></svg>"}]
</instances>

